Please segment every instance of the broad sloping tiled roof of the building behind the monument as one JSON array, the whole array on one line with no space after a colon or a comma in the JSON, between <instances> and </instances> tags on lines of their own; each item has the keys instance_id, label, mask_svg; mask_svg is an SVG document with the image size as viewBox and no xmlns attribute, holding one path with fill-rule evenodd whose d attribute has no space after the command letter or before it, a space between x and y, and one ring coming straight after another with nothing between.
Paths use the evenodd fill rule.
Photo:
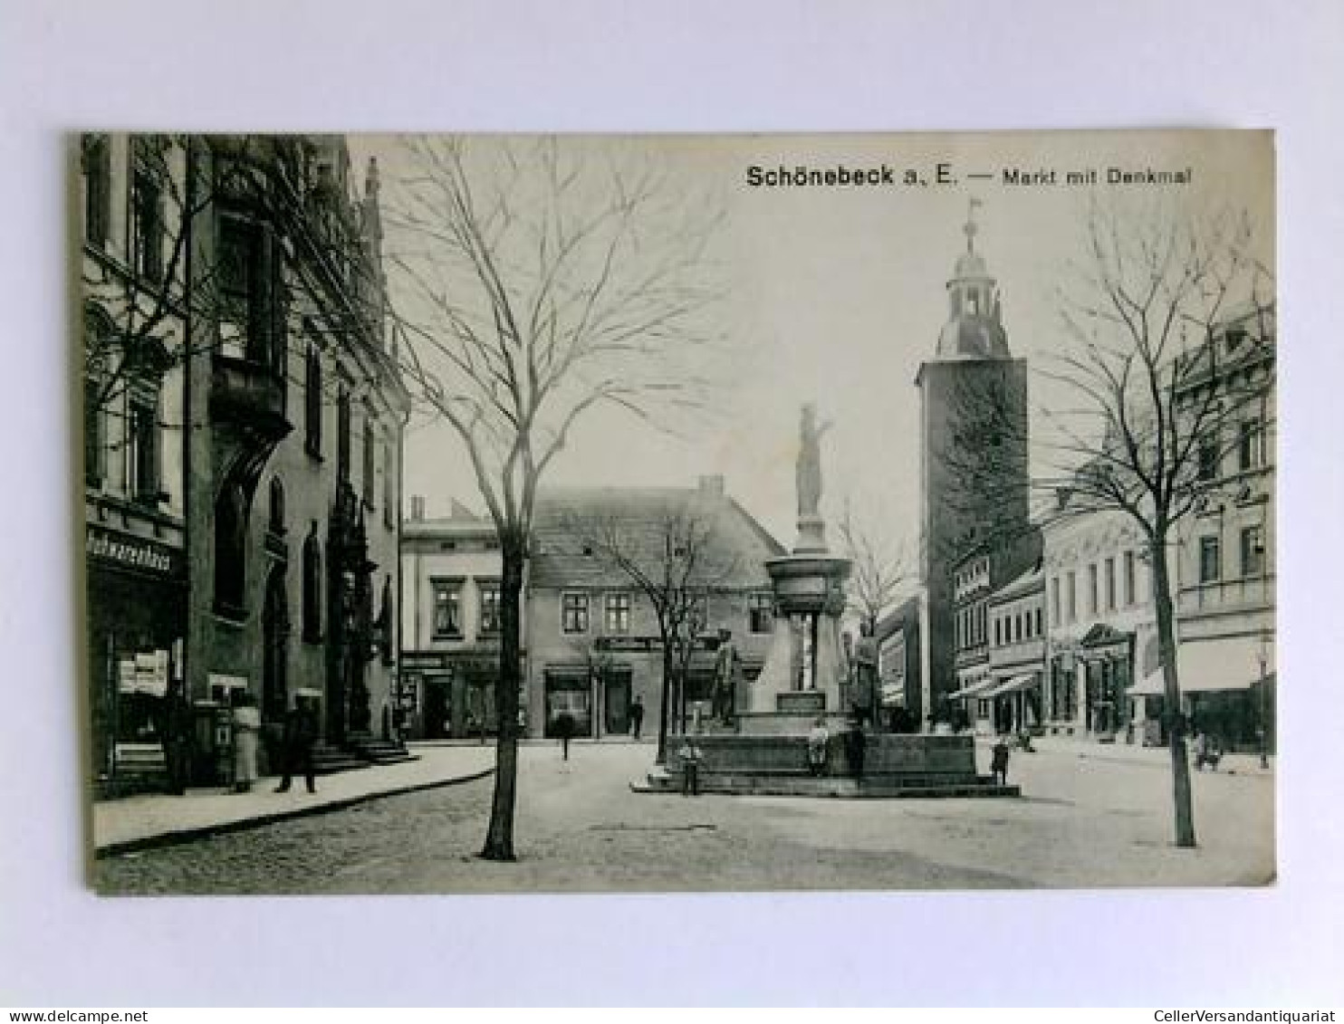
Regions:
<instances>
[{"instance_id":1,"label":"broad sloping tiled roof of the building behind the monument","mask_svg":"<svg viewBox=\"0 0 1344 1024\"><path fill-rule=\"evenodd\" d=\"M785 548L737 501L698 488L556 488L538 493L530 587L625 587L630 578L585 544L585 531L610 527L646 567L664 558L669 520L694 517L708 529L711 589L767 589L765 562ZM585 548L589 554L585 554Z\"/></svg>"}]
</instances>

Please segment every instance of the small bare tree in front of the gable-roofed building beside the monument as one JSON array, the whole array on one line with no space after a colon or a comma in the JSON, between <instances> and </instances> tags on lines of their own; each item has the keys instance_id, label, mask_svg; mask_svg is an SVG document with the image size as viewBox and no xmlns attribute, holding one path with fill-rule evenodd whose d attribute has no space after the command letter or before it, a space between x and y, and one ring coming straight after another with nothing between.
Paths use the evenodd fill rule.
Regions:
<instances>
[{"instance_id":1,"label":"small bare tree in front of the gable-roofed building beside the monument","mask_svg":"<svg viewBox=\"0 0 1344 1024\"><path fill-rule=\"evenodd\" d=\"M570 516L563 528L624 575L648 601L663 648L657 763L667 759L668 726L685 715L691 653L708 625L708 601L737 567L716 543L714 515L692 500L661 515Z\"/></svg>"}]
</instances>

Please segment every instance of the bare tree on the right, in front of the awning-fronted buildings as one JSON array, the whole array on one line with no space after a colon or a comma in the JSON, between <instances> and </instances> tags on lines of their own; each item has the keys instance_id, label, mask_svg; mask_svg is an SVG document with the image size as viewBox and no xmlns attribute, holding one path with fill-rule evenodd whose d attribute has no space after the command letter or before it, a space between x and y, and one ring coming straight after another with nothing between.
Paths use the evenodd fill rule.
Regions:
<instances>
[{"instance_id":1,"label":"bare tree on the right, in front of the awning-fronted buildings","mask_svg":"<svg viewBox=\"0 0 1344 1024\"><path fill-rule=\"evenodd\" d=\"M1245 212L1094 200L1085 239L1085 257L1058 296L1070 344L1036 367L1063 398L1038 409L1031 484L1046 501L1068 496L1051 516L1120 511L1145 540L1171 718L1176 844L1193 847L1169 558L1177 524L1206 499L1210 462L1238 443L1249 415L1269 429L1273 277ZM1247 341L1230 353L1226 336L1238 324L1249 328ZM1024 447L1009 402L985 388L964 399L977 406L977 430L989 423L989 435L1009 438L1008 449ZM984 466L958 468L985 481L977 470Z\"/></svg>"}]
</instances>

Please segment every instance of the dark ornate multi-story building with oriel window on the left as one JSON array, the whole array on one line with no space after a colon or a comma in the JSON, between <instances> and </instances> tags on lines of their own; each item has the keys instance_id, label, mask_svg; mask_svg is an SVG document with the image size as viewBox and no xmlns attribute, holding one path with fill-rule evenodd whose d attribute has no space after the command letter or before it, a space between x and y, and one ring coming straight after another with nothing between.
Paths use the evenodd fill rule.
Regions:
<instances>
[{"instance_id":1,"label":"dark ornate multi-story building with oriel window on the left","mask_svg":"<svg viewBox=\"0 0 1344 1024\"><path fill-rule=\"evenodd\" d=\"M142 534L137 554L105 540L112 505L90 499L90 650L121 657L122 624L141 614L103 582L101 552L164 566L176 587L159 589L164 610L132 641L152 648L141 660L155 667L132 673L152 683L128 687L101 654L93 691L161 700L167 648L198 753L242 692L261 707L263 750L301 696L331 742L390 731L409 395L384 335L376 165L359 189L335 136L90 136L83 156L85 298L105 336L86 349L125 353L89 360L86 396L116 360L134 371L124 413L86 402L86 477L101 490L117 473L144 509L113 516ZM124 203L109 199L118 189ZM149 327L109 305L129 280L116 263L167 282Z\"/></svg>"}]
</instances>

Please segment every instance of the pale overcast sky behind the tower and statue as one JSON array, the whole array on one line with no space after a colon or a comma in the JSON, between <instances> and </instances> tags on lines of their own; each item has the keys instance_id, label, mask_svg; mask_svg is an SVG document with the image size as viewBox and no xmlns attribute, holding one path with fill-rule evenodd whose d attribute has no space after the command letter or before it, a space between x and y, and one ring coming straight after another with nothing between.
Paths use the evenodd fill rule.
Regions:
<instances>
[{"instance_id":1,"label":"pale overcast sky behind the tower and statue","mask_svg":"<svg viewBox=\"0 0 1344 1024\"><path fill-rule=\"evenodd\" d=\"M594 155L630 140L574 138ZM1129 198L1163 192L1196 208L1231 204L1257 226L1271 265L1273 155L1265 133L1054 133L945 136L650 136L636 145L676 181L722 200L720 308L745 359L726 382L724 419L669 437L617 410L594 413L552 465L547 485L694 485L722 473L727 489L782 543L794 538L793 465L798 409L817 402L832 419L823 464L824 511L845 496L880 509L894 539L918 534L918 402L914 379L931 359L948 318L946 281L965 250L972 195L976 247L997 278L1012 353L1043 364L1066 344L1056 288L1082 254L1091 188L1066 185L1067 171L1095 168L1097 191ZM356 167L376 153L384 204L395 203L405 167L396 141L352 144ZM937 184L937 165L950 181ZM753 165L909 169L927 184L750 187ZM1055 169L1056 184L1008 185L1004 168ZM1107 185L1106 169L1192 169L1192 184ZM973 180L973 173L992 175ZM360 175L362 177L362 175ZM394 304L399 301L392 274ZM1032 376L1034 430L1048 384ZM417 425L406 439L406 493L429 513L449 499L482 503L460 442L446 426ZM832 540L833 540L832 534Z\"/></svg>"}]
</instances>

